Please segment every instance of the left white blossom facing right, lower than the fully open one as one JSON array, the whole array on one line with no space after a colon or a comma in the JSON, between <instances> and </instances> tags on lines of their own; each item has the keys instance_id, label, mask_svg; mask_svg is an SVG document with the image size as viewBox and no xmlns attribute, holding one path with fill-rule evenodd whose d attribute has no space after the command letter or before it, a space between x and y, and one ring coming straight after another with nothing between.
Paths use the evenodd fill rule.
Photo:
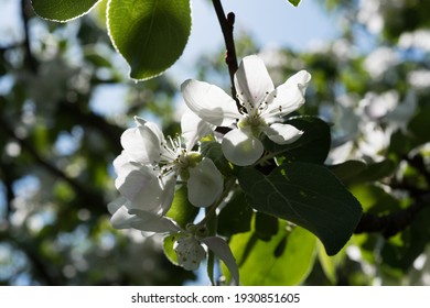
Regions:
<instances>
[{"instance_id":1,"label":"left white blossom facing right, lower than the fully open one","mask_svg":"<svg viewBox=\"0 0 430 308\"><path fill-rule=\"evenodd\" d=\"M121 135L123 151L114 162L117 189L130 201L131 208L143 207L164 213L173 199L178 177L190 182L192 205L211 206L223 190L223 176L209 158L202 158L193 150L196 142L212 131L211 127L189 112L183 116L182 138L165 139L154 123L138 117L135 120L137 127Z\"/></svg>"}]
</instances>

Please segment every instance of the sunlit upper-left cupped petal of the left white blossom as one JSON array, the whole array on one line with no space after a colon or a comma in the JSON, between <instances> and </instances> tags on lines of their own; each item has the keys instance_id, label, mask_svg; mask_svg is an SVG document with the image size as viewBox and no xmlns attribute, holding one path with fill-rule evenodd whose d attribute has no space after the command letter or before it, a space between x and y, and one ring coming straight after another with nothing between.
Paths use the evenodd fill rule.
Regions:
<instances>
[{"instance_id":1,"label":"sunlit upper-left cupped petal of the left white blossom","mask_svg":"<svg viewBox=\"0 0 430 308\"><path fill-rule=\"evenodd\" d=\"M144 121L140 119L141 121ZM160 132L155 124L142 122L137 128L126 130L121 135L121 145L131 161L154 164L160 161Z\"/></svg>"}]
</instances>

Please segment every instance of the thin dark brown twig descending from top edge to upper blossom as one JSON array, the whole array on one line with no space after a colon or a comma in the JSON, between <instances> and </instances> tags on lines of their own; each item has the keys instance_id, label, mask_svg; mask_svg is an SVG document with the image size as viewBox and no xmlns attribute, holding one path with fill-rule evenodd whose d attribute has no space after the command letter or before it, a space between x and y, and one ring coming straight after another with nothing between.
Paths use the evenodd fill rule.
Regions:
<instances>
[{"instance_id":1,"label":"thin dark brown twig descending from top edge to upper blossom","mask_svg":"<svg viewBox=\"0 0 430 308\"><path fill-rule=\"evenodd\" d=\"M224 36L224 43L226 46L226 54L225 54L225 62L228 67L228 73L230 76L230 84L232 84L232 97L236 101L236 106L238 110L240 110L240 102L236 98L236 87L235 87L235 73L238 68L237 64L237 56L236 56L236 47L235 47L235 38L233 36L233 30L235 24L235 13L230 12L227 14L227 16L224 13L223 4L221 3L221 0L212 0L214 3L214 9L216 12L216 16L218 18L218 22L221 25L221 30L223 32Z\"/></svg>"}]
</instances>

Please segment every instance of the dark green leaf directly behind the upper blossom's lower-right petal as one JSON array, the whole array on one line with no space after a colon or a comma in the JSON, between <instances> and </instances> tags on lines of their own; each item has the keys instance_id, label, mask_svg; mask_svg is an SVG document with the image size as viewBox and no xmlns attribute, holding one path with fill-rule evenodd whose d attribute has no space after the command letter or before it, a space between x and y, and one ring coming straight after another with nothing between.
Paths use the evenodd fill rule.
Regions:
<instances>
[{"instance_id":1,"label":"dark green leaf directly behind the upper blossom's lower-right petal","mask_svg":"<svg viewBox=\"0 0 430 308\"><path fill-rule=\"evenodd\" d=\"M291 144L279 145L268 138L264 140L265 148L276 156L286 157L287 161L301 161L315 164L325 162L330 151L330 127L316 117L295 117L286 124L303 131L303 135Z\"/></svg>"}]
</instances>

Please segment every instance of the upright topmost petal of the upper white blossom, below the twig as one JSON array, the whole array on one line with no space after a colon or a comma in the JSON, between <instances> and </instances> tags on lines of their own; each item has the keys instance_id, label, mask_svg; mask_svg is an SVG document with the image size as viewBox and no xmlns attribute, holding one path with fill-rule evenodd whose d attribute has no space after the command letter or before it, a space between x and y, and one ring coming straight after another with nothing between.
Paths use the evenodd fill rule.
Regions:
<instances>
[{"instance_id":1,"label":"upright topmost petal of the upper white blossom, below the twig","mask_svg":"<svg viewBox=\"0 0 430 308\"><path fill-rule=\"evenodd\" d=\"M248 100L258 108L267 94L275 89L265 63L256 55L244 57L235 74L235 86L248 111Z\"/></svg>"}]
</instances>

